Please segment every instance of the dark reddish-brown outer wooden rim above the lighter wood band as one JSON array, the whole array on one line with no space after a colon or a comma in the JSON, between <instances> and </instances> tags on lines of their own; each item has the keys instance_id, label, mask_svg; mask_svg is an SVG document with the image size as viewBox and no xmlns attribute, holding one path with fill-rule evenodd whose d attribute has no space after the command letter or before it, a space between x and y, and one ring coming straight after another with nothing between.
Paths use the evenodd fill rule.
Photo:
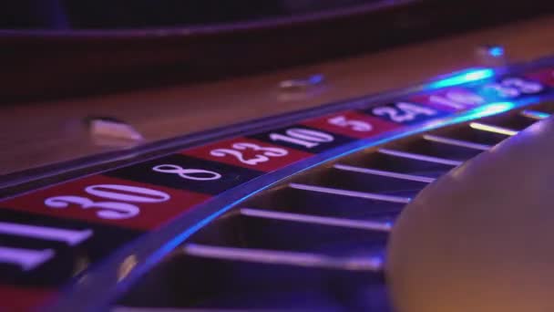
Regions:
<instances>
[{"instance_id":1,"label":"dark reddish-brown outer wooden rim above the lighter wood band","mask_svg":"<svg viewBox=\"0 0 554 312\"><path fill-rule=\"evenodd\" d=\"M197 22L188 24L190 17L180 15L183 22L188 22L169 27L148 21L151 22L158 10L182 11L182 1L137 3L140 2L148 2L155 9L137 4L127 5L124 10L115 4L102 9L102 3L110 2L100 1L91 6L109 18L94 14L94 9L91 16L80 16L92 24L81 25L80 17L71 17L75 13L72 10L63 13L69 15L66 18L71 22L55 30L47 27L11 30L4 29L0 23L0 46L3 47L0 103L236 78L502 25L525 16L554 14L554 3L548 0L536 0L533 5L504 1L501 14L494 1L357 0L359 5L333 10L299 15L282 13L280 17L247 18L232 23L225 19L210 23L210 19L206 20L210 16L203 16L201 10L192 10ZM232 1L229 6L239 9L240 2ZM271 3L287 1L269 2L265 9L277 10L274 12L277 13L279 9L271 8ZM169 3L176 6L169 7ZM213 8L215 11L229 12L217 6ZM255 10L255 5L250 6L252 9ZM263 16L262 11L258 10L256 15ZM5 22L1 20L2 14L9 16L9 8L7 13L0 8L0 22ZM25 19L17 14L12 16ZM167 18L155 19L169 23L174 17L169 14ZM136 28L128 24L130 20L146 24ZM112 23L118 27L96 28L113 26Z\"/></svg>"}]
</instances>

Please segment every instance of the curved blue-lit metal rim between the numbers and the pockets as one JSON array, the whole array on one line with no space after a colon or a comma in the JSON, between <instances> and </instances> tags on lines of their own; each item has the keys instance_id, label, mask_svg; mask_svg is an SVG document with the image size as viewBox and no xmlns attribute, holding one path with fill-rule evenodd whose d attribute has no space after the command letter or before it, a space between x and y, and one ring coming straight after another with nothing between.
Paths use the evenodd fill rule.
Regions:
<instances>
[{"instance_id":1,"label":"curved blue-lit metal rim between the numbers and the pockets","mask_svg":"<svg viewBox=\"0 0 554 312\"><path fill-rule=\"evenodd\" d=\"M517 109L536 102L537 99L522 100L514 104L513 107L509 107L509 109ZM159 263L165 255L168 255L171 250L182 244L202 226L209 224L210 221L216 219L222 213L228 212L237 203L241 203L252 195L270 188L275 183L283 182L294 174L305 172L325 162L385 142L409 137L428 130L456 125L468 120L477 120L507 110L472 109L457 116L432 120L423 125L415 125L367 140L354 141L332 151L314 155L305 161L294 163L280 171L270 172L250 182L245 182L221 193L206 203L201 203L169 225L145 234L142 238L118 250L102 265L98 265L96 269L82 276L73 285L67 286L66 291L62 293L52 308L55 310L75 310L77 307L79 309L86 307L89 310L108 308L113 300L124 293L140 276L149 271L153 265ZM122 278L118 276L118 268L129 256L136 260L136 265L127 276Z\"/></svg>"}]
</instances>

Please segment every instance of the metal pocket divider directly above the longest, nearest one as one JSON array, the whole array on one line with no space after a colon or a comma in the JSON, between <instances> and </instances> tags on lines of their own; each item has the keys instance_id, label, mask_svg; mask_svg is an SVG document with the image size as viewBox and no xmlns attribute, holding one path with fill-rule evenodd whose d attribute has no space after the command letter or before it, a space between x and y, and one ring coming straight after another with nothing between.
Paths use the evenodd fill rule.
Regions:
<instances>
[{"instance_id":1,"label":"metal pocket divider directly above the longest, nearest one","mask_svg":"<svg viewBox=\"0 0 554 312\"><path fill-rule=\"evenodd\" d=\"M260 209L241 208L242 215L247 215L255 218L265 218L272 220L282 220L290 222L298 222L305 224L319 224L327 226L347 227L359 230L378 231L378 232L390 232L393 225L388 222L375 222L375 221L360 221L351 219L341 219L334 217L324 217L310 214L300 213L282 213L271 212Z\"/></svg>"}]
</instances>

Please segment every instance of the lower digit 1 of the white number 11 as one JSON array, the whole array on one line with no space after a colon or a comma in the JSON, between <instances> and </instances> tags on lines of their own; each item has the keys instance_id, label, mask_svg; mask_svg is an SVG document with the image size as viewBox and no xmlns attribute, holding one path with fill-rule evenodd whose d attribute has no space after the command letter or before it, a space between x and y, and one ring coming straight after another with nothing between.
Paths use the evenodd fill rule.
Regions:
<instances>
[{"instance_id":1,"label":"lower digit 1 of the white number 11","mask_svg":"<svg viewBox=\"0 0 554 312\"><path fill-rule=\"evenodd\" d=\"M22 270L30 271L54 257L52 249L33 250L0 246L0 263L19 265Z\"/></svg>"}]
</instances>

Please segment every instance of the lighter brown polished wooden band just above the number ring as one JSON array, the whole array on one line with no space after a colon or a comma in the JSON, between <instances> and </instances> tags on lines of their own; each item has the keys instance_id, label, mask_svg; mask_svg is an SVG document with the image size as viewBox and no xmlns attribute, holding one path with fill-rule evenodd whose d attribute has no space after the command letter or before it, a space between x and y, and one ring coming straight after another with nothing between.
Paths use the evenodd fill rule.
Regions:
<instances>
[{"instance_id":1,"label":"lighter brown polished wooden band just above the number ring","mask_svg":"<svg viewBox=\"0 0 554 312\"><path fill-rule=\"evenodd\" d=\"M84 120L125 120L143 142L231 125L414 85L452 70L479 66L475 48L499 44L510 61L554 54L554 16L522 21L360 57L218 82L149 88L87 99L5 104L0 109L0 174L125 148L94 140ZM283 92L279 82L325 76L306 92Z\"/></svg>"}]
</instances>

